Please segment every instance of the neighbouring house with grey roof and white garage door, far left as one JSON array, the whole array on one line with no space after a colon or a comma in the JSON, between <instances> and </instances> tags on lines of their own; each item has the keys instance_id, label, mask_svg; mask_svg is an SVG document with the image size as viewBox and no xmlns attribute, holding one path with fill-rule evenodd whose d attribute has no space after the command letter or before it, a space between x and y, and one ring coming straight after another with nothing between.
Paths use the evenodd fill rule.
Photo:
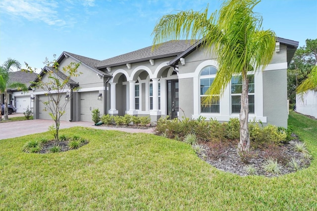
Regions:
<instances>
[{"instance_id":1,"label":"neighbouring house with grey roof and white garage door, far left","mask_svg":"<svg viewBox=\"0 0 317 211\"><path fill-rule=\"evenodd\" d=\"M30 73L26 70L20 70L15 72L9 72L9 80L11 82L20 82L29 88L28 92L23 92L17 89L9 89L8 94L8 104L14 105L16 107L17 113L23 113L27 107L33 107L31 97L33 96L33 90L30 89L31 82L37 78L37 73ZM1 100L3 103L3 94L1 95Z\"/></svg>"}]
</instances>

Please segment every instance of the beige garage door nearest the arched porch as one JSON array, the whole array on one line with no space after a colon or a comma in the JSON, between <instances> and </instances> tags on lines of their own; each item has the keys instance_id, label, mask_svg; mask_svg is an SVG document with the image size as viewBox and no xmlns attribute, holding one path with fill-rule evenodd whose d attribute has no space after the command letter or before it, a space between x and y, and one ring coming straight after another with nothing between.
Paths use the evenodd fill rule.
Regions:
<instances>
[{"instance_id":1,"label":"beige garage door nearest the arched porch","mask_svg":"<svg viewBox=\"0 0 317 211\"><path fill-rule=\"evenodd\" d=\"M98 91L80 93L80 121L93 121L91 111L95 108L103 112L103 101L97 100L98 94Z\"/></svg>"}]
</instances>

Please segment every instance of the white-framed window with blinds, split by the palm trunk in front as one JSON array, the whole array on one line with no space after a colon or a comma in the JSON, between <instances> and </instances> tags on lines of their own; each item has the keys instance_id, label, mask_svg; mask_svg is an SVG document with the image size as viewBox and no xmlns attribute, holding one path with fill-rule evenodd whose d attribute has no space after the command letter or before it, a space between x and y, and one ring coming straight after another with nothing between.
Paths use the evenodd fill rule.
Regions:
<instances>
[{"instance_id":1,"label":"white-framed window with blinds, split by the palm trunk in front","mask_svg":"<svg viewBox=\"0 0 317 211\"><path fill-rule=\"evenodd\" d=\"M249 113L254 113L254 75L248 75ZM231 78L231 112L240 113L242 93L242 76Z\"/></svg>"}]
</instances>

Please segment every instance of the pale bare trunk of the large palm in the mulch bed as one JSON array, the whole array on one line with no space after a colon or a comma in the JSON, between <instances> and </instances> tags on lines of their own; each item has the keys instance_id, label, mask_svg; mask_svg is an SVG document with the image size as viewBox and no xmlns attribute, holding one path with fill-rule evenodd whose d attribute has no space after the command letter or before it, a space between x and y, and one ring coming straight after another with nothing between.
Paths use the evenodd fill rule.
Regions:
<instances>
[{"instance_id":1,"label":"pale bare trunk of the large palm in the mulch bed","mask_svg":"<svg viewBox=\"0 0 317 211\"><path fill-rule=\"evenodd\" d=\"M242 93L241 93L241 109L240 109L240 143L238 144L238 152L249 152L250 136L249 136L249 97L248 97L248 77L242 75Z\"/></svg>"}]
</instances>

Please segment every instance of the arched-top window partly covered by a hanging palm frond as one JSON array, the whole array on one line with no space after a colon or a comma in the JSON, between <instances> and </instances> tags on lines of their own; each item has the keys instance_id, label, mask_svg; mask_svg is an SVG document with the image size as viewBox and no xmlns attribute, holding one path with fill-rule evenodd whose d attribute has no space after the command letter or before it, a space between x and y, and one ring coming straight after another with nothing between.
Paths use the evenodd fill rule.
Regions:
<instances>
[{"instance_id":1,"label":"arched-top window partly covered by a hanging palm frond","mask_svg":"<svg viewBox=\"0 0 317 211\"><path fill-rule=\"evenodd\" d=\"M214 66L206 66L202 69L200 73L200 104L201 104L201 113L219 113L220 105L219 100L213 102L209 105L202 105L202 100L206 95L207 90L211 86L215 76L217 73L217 69Z\"/></svg>"}]
</instances>

